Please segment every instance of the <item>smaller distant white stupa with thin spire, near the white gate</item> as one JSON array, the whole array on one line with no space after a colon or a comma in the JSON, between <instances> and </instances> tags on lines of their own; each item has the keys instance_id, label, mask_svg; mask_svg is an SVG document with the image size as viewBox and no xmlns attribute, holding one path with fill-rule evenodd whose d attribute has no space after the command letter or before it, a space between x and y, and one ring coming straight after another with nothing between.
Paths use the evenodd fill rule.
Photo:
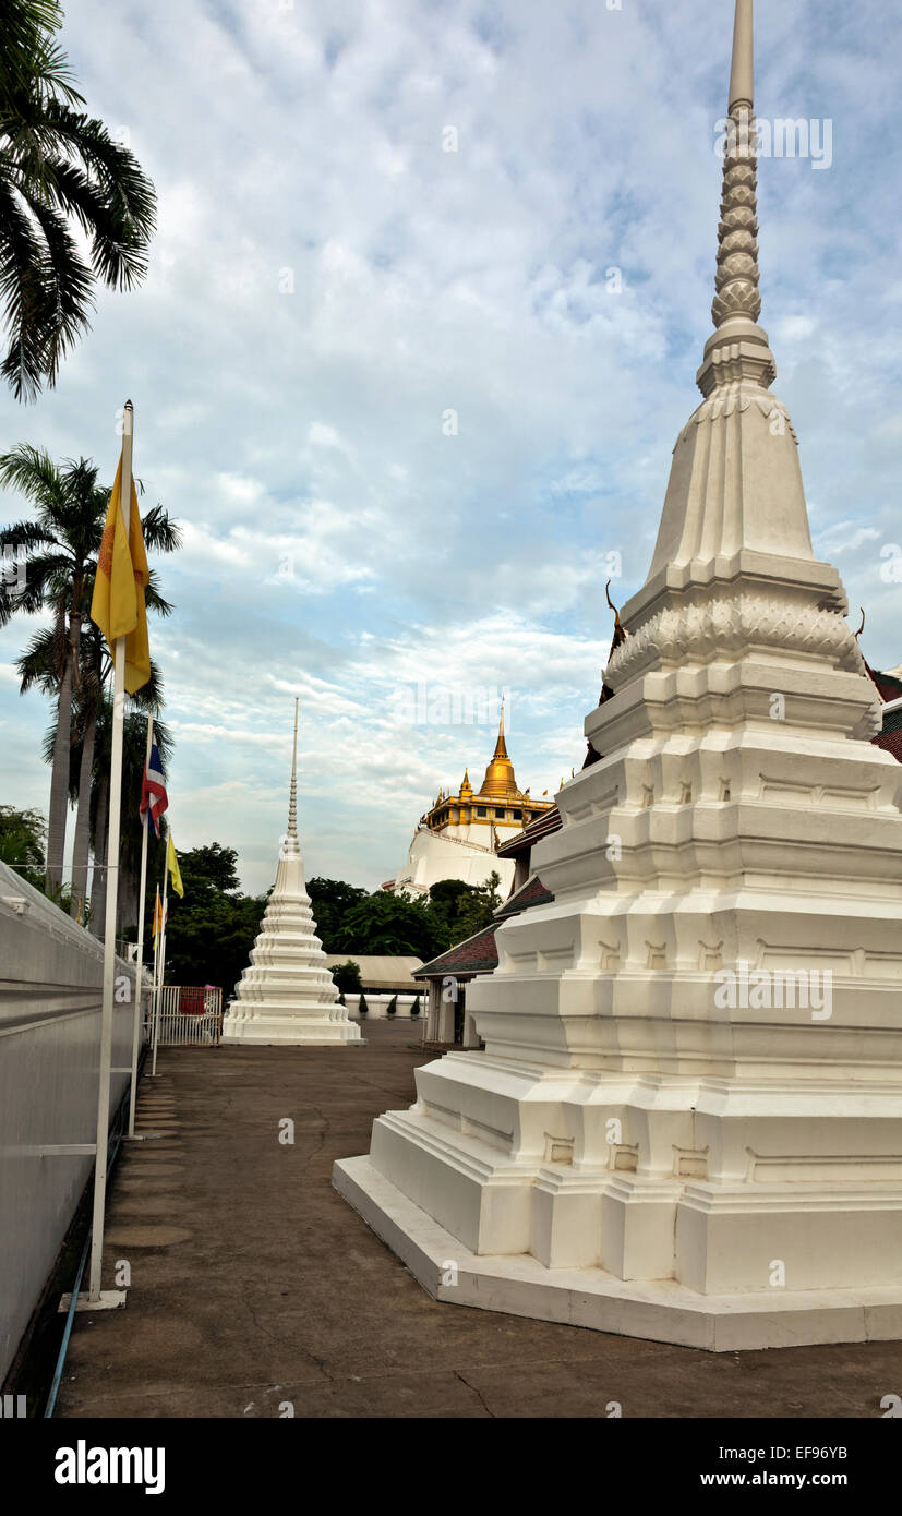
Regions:
<instances>
[{"instance_id":1,"label":"smaller distant white stupa with thin spire, near the white gate","mask_svg":"<svg viewBox=\"0 0 902 1516\"><path fill-rule=\"evenodd\" d=\"M308 1048L361 1043L359 1026L338 1001L303 878L297 841L297 700L288 835L250 966L223 1019L223 1041Z\"/></svg>"}]
</instances>

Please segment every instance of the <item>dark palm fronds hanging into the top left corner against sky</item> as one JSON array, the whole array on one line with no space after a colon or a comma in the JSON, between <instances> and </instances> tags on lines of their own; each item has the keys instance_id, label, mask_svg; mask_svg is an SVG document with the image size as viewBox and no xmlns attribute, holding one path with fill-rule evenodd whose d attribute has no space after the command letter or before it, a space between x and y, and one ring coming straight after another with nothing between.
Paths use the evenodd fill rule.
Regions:
<instances>
[{"instance_id":1,"label":"dark palm fronds hanging into the top left corner against sky","mask_svg":"<svg viewBox=\"0 0 902 1516\"><path fill-rule=\"evenodd\" d=\"M88 329L97 280L127 290L147 271L156 199L136 158L80 108L56 0L0 0L0 294L9 335L0 374L18 400L53 385ZM89 238L83 256L79 240Z\"/></svg>"}]
</instances>

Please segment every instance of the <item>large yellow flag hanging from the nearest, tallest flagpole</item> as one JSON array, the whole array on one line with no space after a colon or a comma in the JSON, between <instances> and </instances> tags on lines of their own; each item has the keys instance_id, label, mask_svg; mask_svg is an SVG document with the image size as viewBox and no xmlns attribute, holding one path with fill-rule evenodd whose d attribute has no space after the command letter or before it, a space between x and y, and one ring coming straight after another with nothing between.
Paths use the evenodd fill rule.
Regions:
<instances>
[{"instance_id":1,"label":"large yellow flag hanging from the nearest, tallest flagpole","mask_svg":"<svg viewBox=\"0 0 902 1516\"><path fill-rule=\"evenodd\" d=\"M120 506L121 476L123 459L120 455L103 523L103 540L91 599L91 620L103 632L111 655L117 637L126 638L126 690L133 694L150 679L150 646L144 606L144 587L150 582L150 572L133 479L129 540L126 541L126 522Z\"/></svg>"}]
</instances>

